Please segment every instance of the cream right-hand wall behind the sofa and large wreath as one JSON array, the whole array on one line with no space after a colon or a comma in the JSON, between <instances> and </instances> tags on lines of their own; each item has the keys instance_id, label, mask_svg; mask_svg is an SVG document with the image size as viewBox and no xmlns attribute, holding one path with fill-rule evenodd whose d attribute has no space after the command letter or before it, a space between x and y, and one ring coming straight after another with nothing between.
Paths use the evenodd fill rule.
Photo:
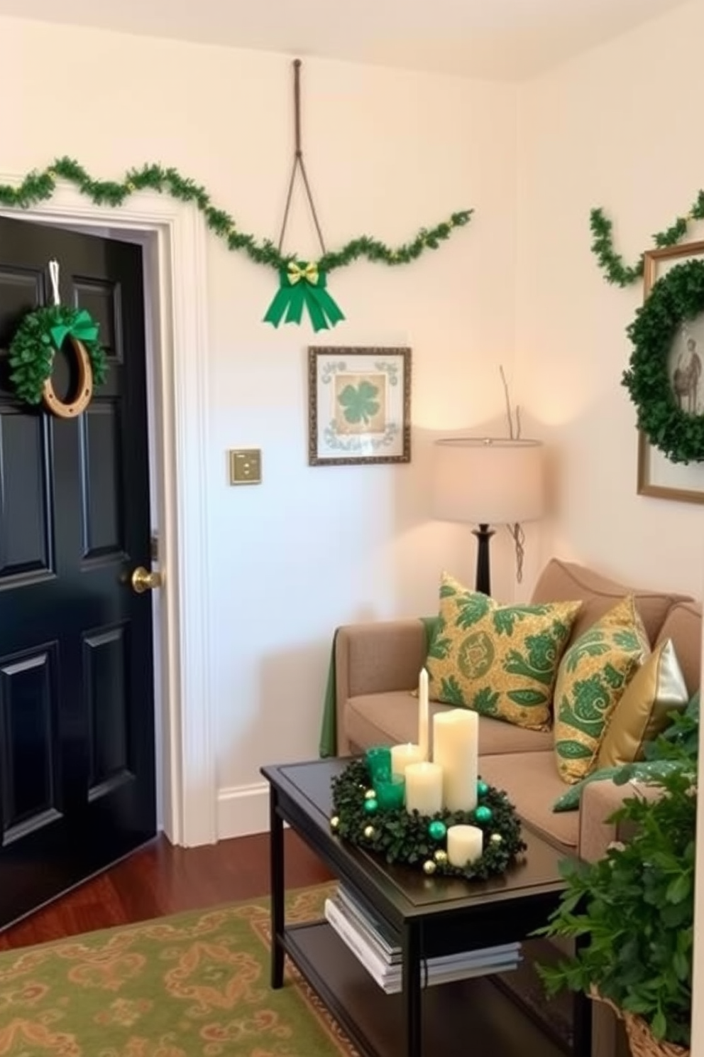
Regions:
<instances>
[{"instance_id":1,"label":"cream right-hand wall behind the sofa and large wreath","mask_svg":"<svg viewBox=\"0 0 704 1057\"><path fill-rule=\"evenodd\" d=\"M516 301L519 389L556 462L544 555L699 597L704 506L635 494L635 409L620 382L643 294L605 281L589 210L605 208L631 262L693 202L702 39L696 2L521 86Z\"/></svg>"}]
</instances>

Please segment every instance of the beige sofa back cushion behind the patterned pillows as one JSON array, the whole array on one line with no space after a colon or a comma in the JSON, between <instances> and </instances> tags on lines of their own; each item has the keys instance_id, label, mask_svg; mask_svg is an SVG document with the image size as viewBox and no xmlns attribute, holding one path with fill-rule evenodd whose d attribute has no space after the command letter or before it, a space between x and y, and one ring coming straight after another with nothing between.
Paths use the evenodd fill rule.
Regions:
<instances>
[{"instance_id":1,"label":"beige sofa back cushion behind the patterned pillows","mask_svg":"<svg viewBox=\"0 0 704 1057\"><path fill-rule=\"evenodd\" d=\"M605 613L615 606L617 601L629 594L633 595L635 599L635 608L643 620L649 643L655 642L661 634L661 628L662 634L665 634L663 622L676 602L691 602L691 597L674 594L670 591L641 591L627 587L624 583L619 583L617 580L602 576L591 569L578 565L576 562L563 561L562 558L551 558L545 567L533 590L531 601L559 601L560 599L569 598L584 599L583 607L572 626L571 642L574 642L587 628L591 627L601 616L604 616ZM682 651L679 649L677 635L668 632L666 637L673 639L682 661L687 685L690 692L693 692L697 686L699 686L699 680L696 681L695 685L689 683L687 666L682 657ZM697 664L699 665L699 661Z\"/></svg>"}]
</instances>

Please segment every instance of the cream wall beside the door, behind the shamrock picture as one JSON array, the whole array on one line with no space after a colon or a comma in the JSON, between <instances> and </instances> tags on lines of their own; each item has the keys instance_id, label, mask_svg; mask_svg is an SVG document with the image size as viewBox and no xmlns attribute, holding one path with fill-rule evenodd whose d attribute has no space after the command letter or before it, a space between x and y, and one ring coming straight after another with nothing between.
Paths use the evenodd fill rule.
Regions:
<instances>
[{"instance_id":1,"label":"cream wall beside the door, behind the shamrock picture","mask_svg":"<svg viewBox=\"0 0 704 1057\"><path fill-rule=\"evenodd\" d=\"M275 238L292 152L288 57L0 20L0 171L57 154L102 178L145 161L204 183ZM259 767L315 756L332 629L436 606L443 567L473 575L469 527L429 520L431 438L501 415L514 346L515 89L307 61L304 147L326 240L402 241L475 206L437 255L336 274L349 321L313 338L261 322L274 273L208 249L208 508L221 833L263 827ZM288 246L316 254L298 197ZM413 462L309 468L306 348L413 349ZM261 447L264 483L233 488L226 449ZM508 537L507 537L508 539ZM495 585L511 595L507 541ZM502 560L503 559L503 560Z\"/></svg>"}]
</instances>

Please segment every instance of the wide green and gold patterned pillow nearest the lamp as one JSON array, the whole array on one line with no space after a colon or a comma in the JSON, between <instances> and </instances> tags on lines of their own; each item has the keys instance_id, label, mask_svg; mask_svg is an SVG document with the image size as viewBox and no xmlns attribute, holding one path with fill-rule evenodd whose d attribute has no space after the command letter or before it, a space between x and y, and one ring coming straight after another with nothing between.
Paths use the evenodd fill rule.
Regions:
<instances>
[{"instance_id":1,"label":"wide green and gold patterned pillow nearest the lamp","mask_svg":"<svg viewBox=\"0 0 704 1057\"><path fill-rule=\"evenodd\" d=\"M425 663L430 696L531 730L548 729L557 665L581 606L500 606L443 573Z\"/></svg>"}]
</instances>

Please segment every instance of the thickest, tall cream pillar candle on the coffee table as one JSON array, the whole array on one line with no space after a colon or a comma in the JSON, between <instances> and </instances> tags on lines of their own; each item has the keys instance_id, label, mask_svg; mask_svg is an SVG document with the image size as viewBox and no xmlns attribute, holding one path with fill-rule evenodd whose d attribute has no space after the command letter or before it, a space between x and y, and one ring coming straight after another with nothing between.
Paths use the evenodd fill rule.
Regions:
<instances>
[{"instance_id":1,"label":"thickest, tall cream pillar candle on the coffee table","mask_svg":"<svg viewBox=\"0 0 704 1057\"><path fill-rule=\"evenodd\" d=\"M448 811L477 805L479 717L452 708L433 718L433 760L442 767L442 803Z\"/></svg>"}]
</instances>

